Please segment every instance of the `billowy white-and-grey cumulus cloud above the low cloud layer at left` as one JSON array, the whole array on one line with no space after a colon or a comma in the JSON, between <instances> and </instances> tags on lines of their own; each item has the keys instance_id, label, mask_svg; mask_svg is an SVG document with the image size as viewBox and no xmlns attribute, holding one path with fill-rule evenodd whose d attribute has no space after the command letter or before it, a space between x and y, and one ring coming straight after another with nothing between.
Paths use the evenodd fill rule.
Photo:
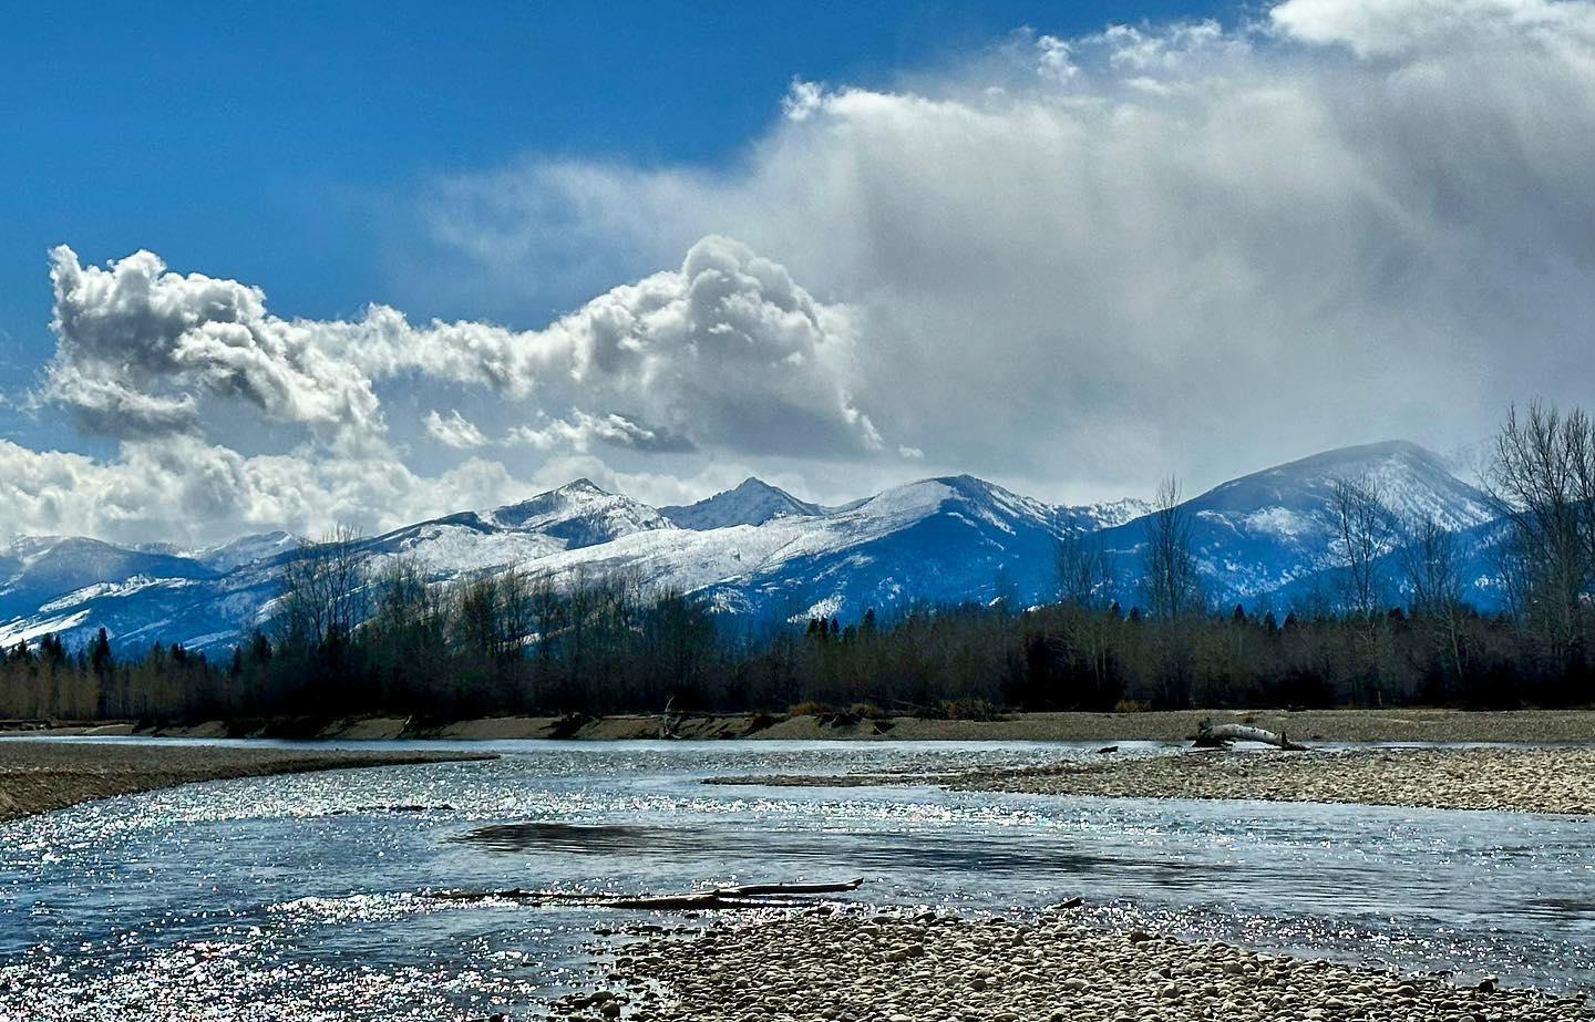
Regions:
<instances>
[{"instance_id":1,"label":"billowy white-and-grey cumulus cloud above the low cloud layer at left","mask_svg":"<svg viewBox=\"0 0 1595 1022\"><path fill-rule=\"evenodd\" d=\"M415 376L574 415L584 434L636 450L882 450L849 391L850 311L729 238L702 238L678 271L614 287L542 330L412 325L380 305L352 322L282 319L260 289L171 273L150 252L97 268L62 246L51 279L46 397L116 438L198 435L201 402L233 400L370 443L388 430L378 384ZM458 413L426 419L434 438L480 446L466 426Z\"/></svg>"}]
</instances>

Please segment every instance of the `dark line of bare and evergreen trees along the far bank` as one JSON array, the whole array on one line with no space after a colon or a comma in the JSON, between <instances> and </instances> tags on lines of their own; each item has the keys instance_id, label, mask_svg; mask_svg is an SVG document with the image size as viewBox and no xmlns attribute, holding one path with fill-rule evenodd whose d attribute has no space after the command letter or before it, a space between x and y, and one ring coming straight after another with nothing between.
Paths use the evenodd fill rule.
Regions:
<instances>
[{"instance_id":1,"label":"dark line of bare and evergreen trees along the far bank","mask_svg":"<svg viewBox=\"0 0 1595 1022\"><path fill-rule=\"evenodd\" d=\"M628 572L504 571L448 584L368 569L340 531L282 566L270 625L230 655L180 644L116 655L56 636L0 657L0 716L329 719L364 713L786 711L984 716L1188 706L1568 706L1595 702L1595 423L1530 405L1496 437L1490 584L1434 517L1402 520L1372 477L1335 480L1335 592L1295 607L1215 607L1169 478L1124 607L1091 536L1056 552L1056 599L911 604L890 619L756 627Z\"/></svg>"}]
</instances>

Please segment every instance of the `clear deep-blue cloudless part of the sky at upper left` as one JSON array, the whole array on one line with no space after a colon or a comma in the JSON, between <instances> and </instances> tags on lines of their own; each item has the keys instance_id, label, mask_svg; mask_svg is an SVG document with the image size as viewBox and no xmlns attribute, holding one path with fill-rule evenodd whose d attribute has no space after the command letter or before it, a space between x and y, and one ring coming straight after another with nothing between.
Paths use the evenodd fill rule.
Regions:
<instances>
[{"instance_id":1,"label":"clear deep-blue cloudless part of the sky at upper left","mask_svg":"<svg viewBox=\"0 0 1595 1022\"><path fill-rule=\"evenodd\" d=\"M281 10L274 10L281 8ZM727 161L794 77L887 86L1032 26L1144 3L110 5L5 14L0 328L51 340L45 252L136 249L262 282L303 316L431 306L384 273L394 202L510 158ZM584 298L547 295L550 305ZM13 376L14 379L14 376Z\"/></svg>"}]
</instances>

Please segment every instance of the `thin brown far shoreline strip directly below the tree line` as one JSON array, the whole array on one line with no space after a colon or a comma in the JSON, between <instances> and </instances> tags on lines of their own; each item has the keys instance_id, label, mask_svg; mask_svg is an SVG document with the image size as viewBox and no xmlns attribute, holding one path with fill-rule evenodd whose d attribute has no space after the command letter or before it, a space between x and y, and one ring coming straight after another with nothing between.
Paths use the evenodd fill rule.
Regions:
<instances>
[{"instance_id":1,"label":"thin brown far shoreline strip directly below the tree line","mask_svg":"<svg viewBox=\"0 0 1595 1022\"><path fill-rule=\"evenodd\" d=\"M464 721L419 721L399 716L343 719L207 721L183 727L137 727L131 722L45 721L0 722L0 733L22 735L155 735L175 738L306 738L380 741L442 738L498 741L563 738L627 741L684 740L847 740L847 741L1187 741L1203 719L1254 722L1302 741L1502 741L1528 745L1595 745L1595 710L1183 710L1136 713L1014 713L992 721L939 721L895 716L879 721L828 721L812 714L612 714L499 716Z\"/></svg>"}]
</instances>

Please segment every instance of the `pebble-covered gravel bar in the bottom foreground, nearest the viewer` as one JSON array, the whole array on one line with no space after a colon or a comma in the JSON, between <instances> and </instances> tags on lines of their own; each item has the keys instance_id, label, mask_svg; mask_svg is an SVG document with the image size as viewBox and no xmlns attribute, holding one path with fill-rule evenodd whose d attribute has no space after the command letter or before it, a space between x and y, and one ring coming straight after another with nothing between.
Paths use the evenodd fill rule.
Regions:
<instances>
[{"instance_id":1,"label":"pebble-covered gravel bar in the bottom foreground, nearest the viewer","mask_svg":"<svg viewBox=\"0 0 1595 1022\"><path fill-rule=\"evenodd\" d=\"M823 909L821 909L823 910ZM1160 1022L1574 1022L1582 998L1191 944L1065 915L785 915L624 945L565 1017Z\"/></svg>"}]
</instances>

